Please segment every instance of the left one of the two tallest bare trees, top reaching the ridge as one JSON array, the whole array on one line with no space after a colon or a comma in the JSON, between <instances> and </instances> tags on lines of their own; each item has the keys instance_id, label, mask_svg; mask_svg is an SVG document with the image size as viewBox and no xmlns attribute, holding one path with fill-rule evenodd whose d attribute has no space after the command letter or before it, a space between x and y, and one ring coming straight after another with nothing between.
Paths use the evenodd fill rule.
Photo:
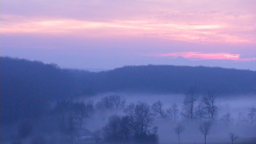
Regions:
<instances>
[{"instance_id":1,"label":"left one of the two tallest bare trees, top reaching the ridge","mask_svg":"<svg viewBox=\"0 0 256 144\"><path fill-rule=\"evenodd\" d=\"M181 115L190 119L194 118L194 105L198 99L197 88L190 87L185 93L185 99L183 102L183 109Z\"/></svg>"}]
</instances>

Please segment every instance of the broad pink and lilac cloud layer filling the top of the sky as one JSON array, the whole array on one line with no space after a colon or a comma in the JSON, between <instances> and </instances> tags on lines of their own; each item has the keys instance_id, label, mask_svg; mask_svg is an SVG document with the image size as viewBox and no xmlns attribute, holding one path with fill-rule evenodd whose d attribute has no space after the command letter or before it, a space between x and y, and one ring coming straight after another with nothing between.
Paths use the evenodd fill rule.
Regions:
<instances>
[{"instance_id":1,"label":"broad pink and lilac cloud layer filling the top of the sky","mask_svg":"<svg viewBox=\"0 0 256 144\"><path fill-rule=\"evenodd\" d=\"M51 3L51 5L48 5ZM255 0L3 0L1 33L256 42ZM68 9L68 10L67 10Z\"/></svg>"}]
</instances>

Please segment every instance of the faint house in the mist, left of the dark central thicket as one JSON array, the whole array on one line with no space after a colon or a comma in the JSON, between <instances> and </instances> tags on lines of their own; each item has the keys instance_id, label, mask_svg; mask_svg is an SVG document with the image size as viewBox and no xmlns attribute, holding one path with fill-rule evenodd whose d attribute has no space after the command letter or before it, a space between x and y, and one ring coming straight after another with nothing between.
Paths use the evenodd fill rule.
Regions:
<instances>
[{"instance_id":1,"label":"faint house in the mist, left of the dark central thicket","mask_svg":"<svg viewBox=\"0 0 256 144\"><path fill-rule=\"evenodd\" d=\"M93 133L90 130L84 128L81 128L77 131L75 141L76 144L96 143L93 137Z\"/></svg>"}]
</instances>

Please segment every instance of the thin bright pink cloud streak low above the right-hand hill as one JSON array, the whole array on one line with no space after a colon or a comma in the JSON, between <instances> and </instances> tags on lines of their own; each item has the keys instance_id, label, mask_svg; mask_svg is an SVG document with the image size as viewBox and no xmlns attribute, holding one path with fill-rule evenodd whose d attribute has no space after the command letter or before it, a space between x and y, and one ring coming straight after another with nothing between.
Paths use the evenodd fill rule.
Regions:
<instances>
[{"instance_id":1,"label":"thin bright pink cloud streak low above the right-hand hill","mask_svg":"<svg viewBox=\"0 0 256 144\"><path fill-rule=\"evenodd\" d=\"M230 53L202 53L202 52L174 52L167 54L146 54L155 57L184 57L190 60L235 60L235 61L254 61L256 58L241 58L241 54Z\"/></svg>"}]
</instances>

